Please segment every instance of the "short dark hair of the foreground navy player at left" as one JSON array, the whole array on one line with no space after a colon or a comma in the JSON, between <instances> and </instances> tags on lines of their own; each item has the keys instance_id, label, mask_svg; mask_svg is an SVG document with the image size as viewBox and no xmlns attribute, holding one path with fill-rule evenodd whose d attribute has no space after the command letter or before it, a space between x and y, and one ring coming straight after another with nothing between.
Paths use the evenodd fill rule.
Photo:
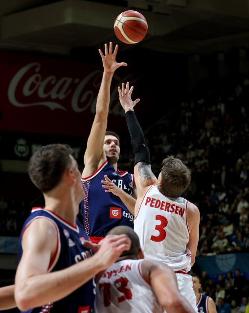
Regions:
<instances>
[{"instance_id":1,"label":"short dark hair of the foreground navy player at left","mask_svg":"<svg viewBox=\"0 0 249 313\"><path fill-rule=\"evenodd\" d=\"M34 185L42 192L54 188L71 165L72 152L64 144L49 144L37 150L28 163L28 175Z\"/></svg>"}]
</instances>

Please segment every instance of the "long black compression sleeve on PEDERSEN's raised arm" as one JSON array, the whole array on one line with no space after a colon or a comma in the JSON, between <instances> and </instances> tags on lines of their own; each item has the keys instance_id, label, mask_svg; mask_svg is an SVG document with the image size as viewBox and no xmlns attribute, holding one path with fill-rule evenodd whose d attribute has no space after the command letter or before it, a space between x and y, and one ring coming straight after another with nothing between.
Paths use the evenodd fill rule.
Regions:
<instances>
[{"instance_id":1,"label":"long black compression sleeve on PEDERSEN's raised arm","mask_svg":"<svg viewBox=\"0 0 249 313\"><path fill-rule=\"evenodd\" d=\"M125 113L126 123L129 133L131 135L131 143L133 152L135 153L134 164L144 161L151 163L150 151L146 145L145 138L141 126L139 125L134 111L127 111Z\"/></svg>"}]
</instances>

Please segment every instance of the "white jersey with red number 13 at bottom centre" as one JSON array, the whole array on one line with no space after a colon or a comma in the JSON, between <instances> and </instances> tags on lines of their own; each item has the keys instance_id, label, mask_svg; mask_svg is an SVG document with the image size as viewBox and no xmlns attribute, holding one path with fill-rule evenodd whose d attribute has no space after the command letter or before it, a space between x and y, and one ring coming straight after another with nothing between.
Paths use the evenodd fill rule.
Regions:
<instances>
[{"instance_id":1,"label":"white jersey with red number 13 at bottom centre","mask_svg":"<svg viewBox=\"0 0 249 313\"><path fill-rule=\"evenodd\" d=\"M162 313L141 273L143 260L123 260L108 268L97 284L95 313Z\"/></svg>"}]
</instances>

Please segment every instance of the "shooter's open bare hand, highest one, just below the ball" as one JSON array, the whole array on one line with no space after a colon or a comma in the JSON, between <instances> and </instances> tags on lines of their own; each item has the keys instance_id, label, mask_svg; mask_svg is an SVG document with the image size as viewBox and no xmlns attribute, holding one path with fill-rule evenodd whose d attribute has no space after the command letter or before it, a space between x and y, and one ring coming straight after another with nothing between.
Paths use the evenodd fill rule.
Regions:
<instances>
[{"instance_id":1,"label":"shooter's open bare hand, highest one, just below the ball","mask_svg":"<svg viewBox=\"0 0 249 313\"><path fill-rule=\"evenodd\" d=\"M102 53L101 49L98 49L98 52L102 58L103 67L105 72L113 73L118 67L125 66L127 67L127 63L121 62L117 63L115 58L117 54L118 45L115 46L113 51L113 43L110 42L109 51L108 46L105 44L105 55Z\"/></svg>"}]
</instances>

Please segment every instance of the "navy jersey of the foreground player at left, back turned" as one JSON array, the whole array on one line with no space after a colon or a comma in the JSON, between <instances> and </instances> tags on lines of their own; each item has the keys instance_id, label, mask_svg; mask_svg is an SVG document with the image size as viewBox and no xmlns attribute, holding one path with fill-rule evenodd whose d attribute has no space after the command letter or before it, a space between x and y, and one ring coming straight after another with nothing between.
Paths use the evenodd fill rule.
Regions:
<instances>
[{"instance_id":1,"label":"navy jersey of the foreground player at left, back turned","mask_svg":"<svg viewBox=\"0 0 249 313\"><path fill-rule=\"evenodd\" d=\"M57 230L57 247L51 260L48 272L68 268L69 266L87 259L93 255L91 249L83 246L84 239L89 240L82 225L76 220L75 225L71 225L52 211L42 208L33 208L30 216L23 224L19 240L19 260L23 254L22 237L23 232L32 221L38 218L45 218L52 221ZM91 313L95 299L94 278L86 284L73 291L67 297L48 303L47 305L28 310L28 313Z\"/></svg>"}]
</instances>

